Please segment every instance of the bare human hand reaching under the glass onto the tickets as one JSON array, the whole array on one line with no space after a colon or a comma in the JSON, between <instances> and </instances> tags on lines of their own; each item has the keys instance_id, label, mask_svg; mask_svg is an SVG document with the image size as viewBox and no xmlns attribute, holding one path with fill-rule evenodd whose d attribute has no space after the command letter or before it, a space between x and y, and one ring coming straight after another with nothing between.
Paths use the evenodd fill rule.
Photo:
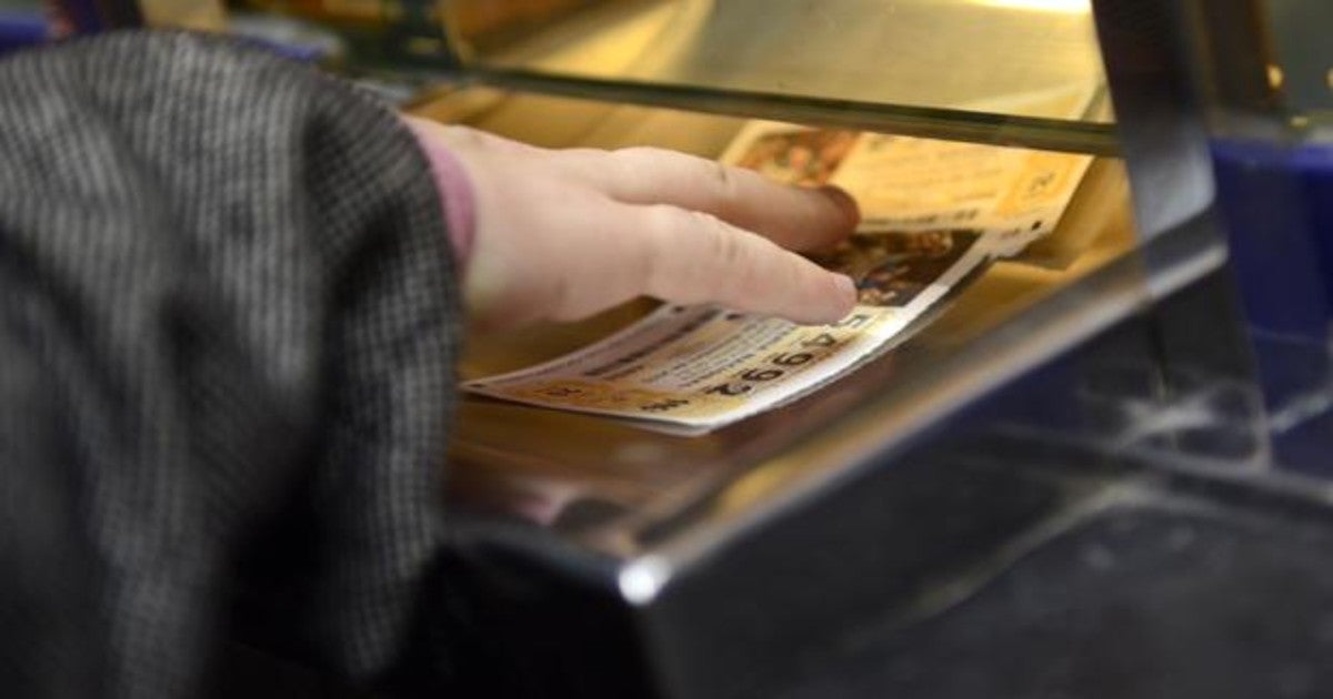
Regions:
<instances>
[{"instance_id":1,"label":"bare human hand reaching under the glass onto the tickets","mask_svg":"<svg viewBox=\"0 0 1333 699\"><path fill-rule=\"evenodd\" d=\"M856 302L852 280L790 252L852 232L860 214L841 190L653 148L549 150L407 118L472 182L463 289L480 329L572 321L639 296L808 324Z\"/></svg>"}]
</instances>

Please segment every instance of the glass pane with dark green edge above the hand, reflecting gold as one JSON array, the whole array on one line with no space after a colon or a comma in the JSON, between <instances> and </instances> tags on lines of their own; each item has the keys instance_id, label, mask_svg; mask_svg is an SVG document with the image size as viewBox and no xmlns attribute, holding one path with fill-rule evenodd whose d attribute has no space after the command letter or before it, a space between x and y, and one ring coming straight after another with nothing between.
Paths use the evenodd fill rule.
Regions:
<instances>
[{"instance_id":1,"label":"glass pane with dark green edge above the hand, reflecting gold","mask_svg":"<svg viewBox=\"0 0 1333 699\"><path fill-rule=\"evenodd\" d=\"M247 4L337 28L351 67L395 79L1116 152L1089 0Z\"/></svg>"}]
</instances>

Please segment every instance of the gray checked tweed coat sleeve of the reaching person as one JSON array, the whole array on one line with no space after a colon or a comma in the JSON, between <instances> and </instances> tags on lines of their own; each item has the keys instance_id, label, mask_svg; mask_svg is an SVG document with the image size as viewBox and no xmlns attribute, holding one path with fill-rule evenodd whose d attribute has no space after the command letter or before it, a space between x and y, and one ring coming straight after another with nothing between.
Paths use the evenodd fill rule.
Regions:
<instances>
[{"instance_id":1,"label":"gray checked tweed coat sleeve of the reaching person","mask_svg":"<svg viewBox=\"0 0 1333 699\"><path fill-rule=\"evenodd\" d=\"M259 49L0 61L0 687L200 691L257 619L395 662L439 546L459 310L388 109Z\"/></svg>"}]
</instances>

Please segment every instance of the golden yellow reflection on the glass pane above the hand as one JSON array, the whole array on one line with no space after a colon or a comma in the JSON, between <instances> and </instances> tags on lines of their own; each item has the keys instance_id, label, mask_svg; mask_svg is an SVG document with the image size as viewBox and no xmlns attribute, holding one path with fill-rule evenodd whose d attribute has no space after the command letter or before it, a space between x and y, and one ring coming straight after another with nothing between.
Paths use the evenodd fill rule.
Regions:
<instances>
[{"instance_id":1,"label":"golden yellow reflection on the glass pane above the hand","mask_svg":"<svg viewBox=\"0 0 1333 699\"><path fill-rule=\"evenodd\" d=\"M500 5L445 5L469 65L1038 118L1065 116L1024 96L1104 83L1086 0L545 0L505 16Z\"/></svg>"}]
</instances>

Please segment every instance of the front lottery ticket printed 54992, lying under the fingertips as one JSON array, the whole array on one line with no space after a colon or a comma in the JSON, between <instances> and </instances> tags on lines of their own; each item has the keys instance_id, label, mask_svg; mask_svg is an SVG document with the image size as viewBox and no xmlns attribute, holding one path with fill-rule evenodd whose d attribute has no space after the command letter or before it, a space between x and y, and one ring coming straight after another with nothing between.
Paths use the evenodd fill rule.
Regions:
<instances>
[{"instance_id":1,"label":"front lottery ticket printed 54992, lying under the fingertips","mask_svg":"<svg viewBox=\"0 0 1333 699\"><path fill-rule=\"evenodd\" d=\"M804 395L873 355L986 261L980 241L973 230L857 236L821 260L858 280L860 302L832 325L664 305L583 350L464 387L706 431Z\"/></svg>"}]
</instances>

